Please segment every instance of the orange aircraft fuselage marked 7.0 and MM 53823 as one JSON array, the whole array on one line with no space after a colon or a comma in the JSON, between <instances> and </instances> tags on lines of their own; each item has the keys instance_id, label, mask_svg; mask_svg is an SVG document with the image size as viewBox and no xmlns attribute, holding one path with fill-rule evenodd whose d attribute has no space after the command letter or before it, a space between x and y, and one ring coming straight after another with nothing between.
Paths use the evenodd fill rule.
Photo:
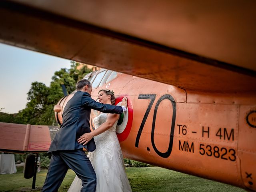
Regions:
<instances>
[{"instance_id":1,"label":"orange aircraft fuselage marked 7.0 and MM 53823","mask_svg":"<svg viewBox=\"0 0 256 192\"><path fill-rule=\"evenodd\" d=\"M255 94L195 92L121 73L108 82L113 73L101 69L85 78L92 81L95 100L101 89L114 90L116 104L128 97L128 112L117 127L124 156L256 190ZM54 108L60 124L72 96Z\"/></svg>"}]
</instances>

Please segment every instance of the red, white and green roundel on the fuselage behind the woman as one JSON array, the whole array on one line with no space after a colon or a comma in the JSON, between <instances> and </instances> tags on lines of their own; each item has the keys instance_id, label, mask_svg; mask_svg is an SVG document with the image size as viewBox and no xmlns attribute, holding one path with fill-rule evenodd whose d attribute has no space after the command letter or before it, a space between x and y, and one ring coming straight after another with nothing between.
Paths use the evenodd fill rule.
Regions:
<instances>
[{"instance_id":1,"label":"red, white and green roundel on the fuselage behind the woman","mask_svg":"<svg viewBox=\"0 0 256 192\"><path fill-rule=\"evenodd\" d=\"M119 96L116 98L116 105L121 105L122 99L124 96ZM133 119L133 107L130 99L127 99L128 110L124 111L123 116L120 115L120 120L116 126L116 134L119 141L124 141L128 137L130 130L132 128L132 119Z\"/></svg>"}]
</instances>

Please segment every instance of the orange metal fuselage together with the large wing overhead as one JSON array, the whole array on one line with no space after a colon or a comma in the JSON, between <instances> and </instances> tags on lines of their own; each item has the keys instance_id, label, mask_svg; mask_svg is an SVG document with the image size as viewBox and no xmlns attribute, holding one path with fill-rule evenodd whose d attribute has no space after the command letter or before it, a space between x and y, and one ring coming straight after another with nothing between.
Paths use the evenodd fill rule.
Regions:
<instances>
[{"instance_id":1,"label":"orange metal fuselage together with the large wing overhead","mask_svg":"<svg viewBox=\"0 0 256 192\"><path fill-rule=\"evenodd\" d=\"M0 42L124 73L92 97L128 96L126 157L256 191L255 5L2 0Z\"/></svg>"}]
</instances>

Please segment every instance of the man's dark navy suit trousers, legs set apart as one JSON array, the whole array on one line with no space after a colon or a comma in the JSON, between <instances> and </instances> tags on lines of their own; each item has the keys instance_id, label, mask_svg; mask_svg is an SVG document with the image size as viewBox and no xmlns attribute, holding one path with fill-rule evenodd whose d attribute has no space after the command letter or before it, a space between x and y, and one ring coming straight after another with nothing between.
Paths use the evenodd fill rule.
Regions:
<instances>
[{"instance_id":1,"label":"man's dark navy suit trousers, legs set apart","mask_svg":"<svg viewBox=\"0 0 256 192\"><path fill-rule=\"evenodd\" d=\"M82 180L81 192L95 192L96 174L83 150L52 152L42 192L57 192L68 168L72 169Z\"/></svg>"}]
</instances>

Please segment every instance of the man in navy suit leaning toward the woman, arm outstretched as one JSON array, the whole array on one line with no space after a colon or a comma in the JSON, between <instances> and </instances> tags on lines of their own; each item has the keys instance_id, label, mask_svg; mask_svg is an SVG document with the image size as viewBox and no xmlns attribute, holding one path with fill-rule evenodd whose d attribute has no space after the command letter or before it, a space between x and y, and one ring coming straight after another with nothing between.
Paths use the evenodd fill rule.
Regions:
<instances>
[{"instance_id":1,"label":"man in navy suit leaning toward the woman, arm outstretched","mask_svg":"<svg viewBox=\"0 0 256 192\"><path fill-rule=\"evenodd\" d=\"M91 109L104 113L122 114L125 107L102 104L91 98L91 83L82 79L76 84L74 96L67 102L63 112L63 123L56 133L48 153L52 154L50 166L42 192L57 192L68 168L82 180L81 192L94 192L96 174L83 148L96 149L94 139L85 146L77 142L78 138L90 130Z\"/></svg>"}]
</instances>

